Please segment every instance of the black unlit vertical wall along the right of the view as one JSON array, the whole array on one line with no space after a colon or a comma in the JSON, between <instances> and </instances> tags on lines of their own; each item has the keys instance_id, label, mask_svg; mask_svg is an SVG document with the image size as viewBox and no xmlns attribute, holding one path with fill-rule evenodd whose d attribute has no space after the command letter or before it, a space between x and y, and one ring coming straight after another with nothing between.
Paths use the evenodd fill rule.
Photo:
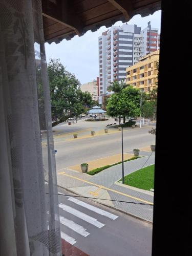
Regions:
<instances>
[{"instance_id":1,"label":"black unlit vertical wall along the right of the view","mask_svg":"<svg viewBox=\"0 0 192 256\"><path fill-rule=\"evenodd\" d=\"M152 252L159 256L192 255L191 5L162 0Z\"/></svg>"}]
</instances>

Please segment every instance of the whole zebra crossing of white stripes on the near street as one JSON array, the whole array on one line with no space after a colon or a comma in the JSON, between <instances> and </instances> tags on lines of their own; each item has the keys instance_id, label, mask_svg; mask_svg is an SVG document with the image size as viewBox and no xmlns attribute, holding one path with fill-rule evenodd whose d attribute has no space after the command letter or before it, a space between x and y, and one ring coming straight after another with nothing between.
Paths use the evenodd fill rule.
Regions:
<instances>
[{"instance_id":1,"label":"whole zebra crossing of white stripes on the near street","mask_svg":"<svg viewBox=\"0 0 192 256\"><path fill-rule=\"evenodd\" d=\"M61 194L61 193L59 193ZM77 233L78 235L80 235L83 238L86 238L90 235L89 230L87 230L86 227L83 227L79 224L77 224L76 222L70 220L69 216L71 216L72 218L75 216L77 219L83 220L83 225L86 225L86 223L91 224L92 226L94 226L95 228L102 228L105 226L104 223L101 223L100 221L98 221L96 218L93 218L88 214L85 214L83 212L84 209L89 209L91 212L94 212L95 214L97 214L98 216L103 216L103 219L110 219L112 221L116 220L118 218L118 216L111 214L108 211L102 210L96 206L93 206L91 204L85 203L83 201L80 201L76 198L73 197L69 197L67 199L67 202L72 202L72 204L70 204L71 206L64 204L64 203L59 203L59 209L60 209L60 225L63 227L62 230L65 230L65 227L68 227L69 229L73 230L75 233ZM75 207L76 206L81 206L81 210L77 210ZM65 214L68 214L68 218L66 218ZM74 233L74 234L75 234ZM75 238L71 237L71 234L69 236L69 234L61 231L61 238L65 241L67 241L68 243L70 243L71 245L74 245L77 241Z\"/></svg>"}]
</instances>

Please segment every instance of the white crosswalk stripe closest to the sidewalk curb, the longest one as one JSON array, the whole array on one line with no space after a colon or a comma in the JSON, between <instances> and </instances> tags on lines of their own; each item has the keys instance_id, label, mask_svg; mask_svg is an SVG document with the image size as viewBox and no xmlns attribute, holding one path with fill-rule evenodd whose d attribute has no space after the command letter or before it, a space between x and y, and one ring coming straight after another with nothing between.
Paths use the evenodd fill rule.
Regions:
<instances>
[{"instance_id":1,"label":"white crosswalk stripe closest to the sidewalk curb, the longest one","mask_svg":"<svg viewBox=\"0 0 192 256\"><path fill-rule=\"evenodd\" d=\"M89 209L89 210L95 211L97 214L100 214L100 215L102 215L102 216L108 217L108 218L110 218L110 219L112 219L112 220L115 220L115 219L118 218L117 215L111 214L111 213L108 212L108 211L99 209L99 208L97 208L97 207L95 207L95 206L93 206L93 205L91 205L91 204L87 204L87 203L85 203L85 202L83 202L83 201L80 201L80 200L78 200L78 199L76 199L76 198L70 197L70 198L68 198L68 200L71 201L71 202L73 202L73 203L75 203L75 204L78 204L78 205L80 205L80 206L82 206L82 207L84 207L84 208L87 208L87 209Z\"/></svg>"}]
</instances>

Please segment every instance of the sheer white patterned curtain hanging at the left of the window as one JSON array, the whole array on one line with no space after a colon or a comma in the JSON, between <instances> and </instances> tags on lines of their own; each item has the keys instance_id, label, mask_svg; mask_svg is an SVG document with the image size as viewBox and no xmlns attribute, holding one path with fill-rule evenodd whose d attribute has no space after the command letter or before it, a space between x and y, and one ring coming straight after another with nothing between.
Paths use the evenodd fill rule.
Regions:
<instances>
[{"instance_id":1,"label":"sheer white patterned curtain hanging at the left of the window","mask_svg":"<svg viewBox=\"0 0 192 256\"><path fill-rule=\"evenodd\" d=\"M0 122L0 254L61 255L40 0L0 0Z\"/></svg>"}]
</instances>

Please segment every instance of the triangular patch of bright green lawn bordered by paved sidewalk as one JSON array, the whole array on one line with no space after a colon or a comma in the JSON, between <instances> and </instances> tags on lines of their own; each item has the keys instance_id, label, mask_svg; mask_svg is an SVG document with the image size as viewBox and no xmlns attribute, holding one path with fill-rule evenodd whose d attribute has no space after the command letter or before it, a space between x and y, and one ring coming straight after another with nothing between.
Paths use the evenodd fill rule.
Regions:
<instances>
[{"instance_id":1,"label":"triangular patch of bright green lawn bordered by paved sidewalk","mask_svg":"<svg viewBox=\"0 0 192 256\"><path fill-rule=\"evenodd\" d=\"M150 165L124 177L124 184L145 190L154 188L154 168ZM122 179L121 179L122 181Z\"/></svg>"}]
</instances>

